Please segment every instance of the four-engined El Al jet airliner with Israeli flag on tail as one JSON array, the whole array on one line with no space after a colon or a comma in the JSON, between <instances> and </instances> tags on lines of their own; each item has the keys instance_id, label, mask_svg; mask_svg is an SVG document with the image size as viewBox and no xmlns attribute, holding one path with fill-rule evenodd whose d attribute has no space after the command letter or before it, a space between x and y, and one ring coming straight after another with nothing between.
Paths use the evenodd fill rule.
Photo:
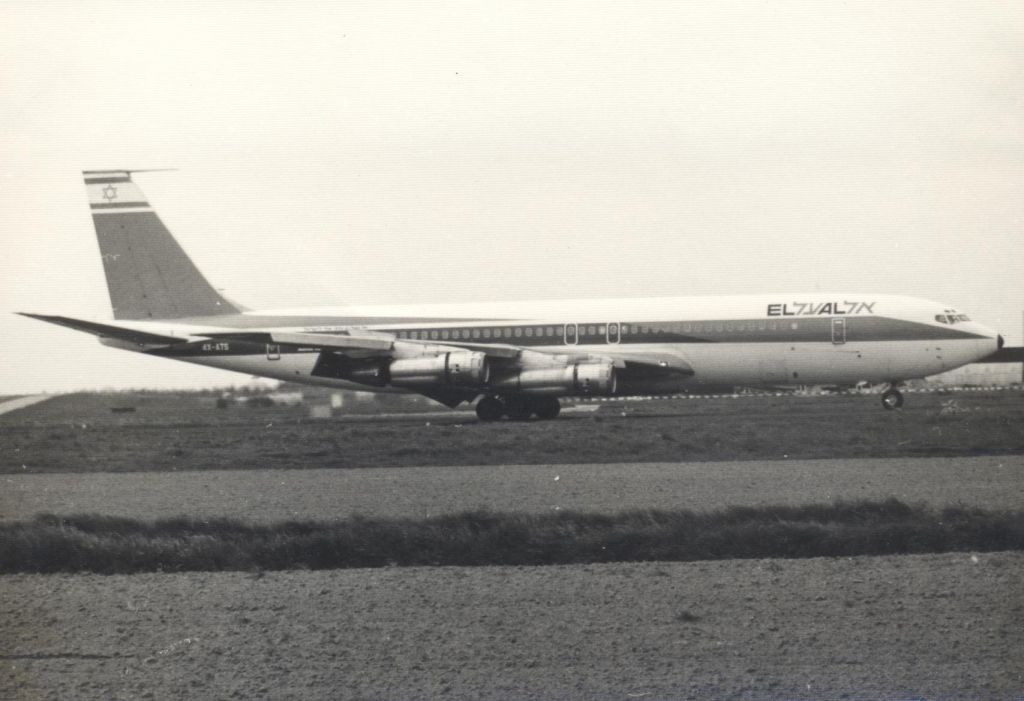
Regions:
<instances>
[{"instance_id":1,"label":"four-engined El Al jet airliner with Israeli flag on tail","mask_svg":"<svg viewBox=\"0 0 1024 701\"><path fill-rule=\"evenodd\" d=\"M990 356L1002 337L947 304L780 294L253 311L200 272L135 170L83 171L114 320L25 316L103 345L278 380L412 392L481 422L555 419L560 398L707 386L886 384Z\"/></svg>"}]
</instances>

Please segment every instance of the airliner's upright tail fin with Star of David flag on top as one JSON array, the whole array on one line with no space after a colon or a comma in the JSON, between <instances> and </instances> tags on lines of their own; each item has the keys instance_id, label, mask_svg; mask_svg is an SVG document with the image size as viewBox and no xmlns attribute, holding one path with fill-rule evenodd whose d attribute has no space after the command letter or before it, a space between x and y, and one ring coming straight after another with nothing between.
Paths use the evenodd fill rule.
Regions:
<instances>
[{"instance_id":1,"label":"airliner's upright tail fin with Star of David flag on top","mask_svg":"<svg viewBox=\"0 0 1024 701\"><path fill-rule=\"evenodd\" d=\"M83 172L114 318L238 313L238 307L213 289L174 240L131 174Z\"/></svg>"}]
</instances>

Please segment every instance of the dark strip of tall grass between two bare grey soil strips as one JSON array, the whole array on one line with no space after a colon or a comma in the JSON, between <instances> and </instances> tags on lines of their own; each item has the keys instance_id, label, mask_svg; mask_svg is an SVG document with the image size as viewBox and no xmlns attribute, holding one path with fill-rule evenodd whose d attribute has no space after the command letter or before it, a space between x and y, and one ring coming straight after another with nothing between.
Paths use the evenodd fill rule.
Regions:
<instances>
[{"instance_id":1,"label":"dark strip of tall grass between two bare grey soil strips","mask_svg":"<svg viewBox=\"0 0 1024 701\"><path fill-rule=\"evenodd\" d=\"M1024 512L908 506L897 499L706 514L637 511L257 526L39 516L0 525L0 573L562 565L735 558L1024 550Z\"/></svg>"}]
</instances>

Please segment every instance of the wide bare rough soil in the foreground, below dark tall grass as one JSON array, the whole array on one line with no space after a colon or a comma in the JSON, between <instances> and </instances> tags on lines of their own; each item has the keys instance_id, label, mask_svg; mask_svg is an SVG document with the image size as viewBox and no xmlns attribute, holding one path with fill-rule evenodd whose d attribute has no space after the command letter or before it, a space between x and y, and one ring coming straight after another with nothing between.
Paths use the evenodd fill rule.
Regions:
<instances>
[{"instance_id":1,"label":"wide bare rough soil in the foreground, below dark tall grass","mask_svg":"<svg viewBox=\"0 0 1024 701\"><path fill-rule=\"evenodd\" d=\"M1024 554L0 577L8 699L1011 699Z\"/></svg>"}]
</instances>

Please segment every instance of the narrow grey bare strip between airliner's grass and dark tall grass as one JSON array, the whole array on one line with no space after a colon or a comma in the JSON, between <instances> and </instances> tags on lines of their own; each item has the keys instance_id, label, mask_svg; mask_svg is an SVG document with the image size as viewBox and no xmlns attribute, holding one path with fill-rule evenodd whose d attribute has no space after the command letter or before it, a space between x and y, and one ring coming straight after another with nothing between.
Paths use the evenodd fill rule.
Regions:
<instances>
[{"instance_id":1,"label":"narrow grey bare strip between airliner's grass and dark tall grass","mask_svg":"<svg viewBox=\"0 0 1024 701\"><path fill-rule=\"evenodd\" d=\"M896 497L1024 508L1024 456L744 461L356 470L5 475L0 519L39 513L252 522L423 518L487 509L541 513L708 511Z\"/></svg>"}]
</instances>

